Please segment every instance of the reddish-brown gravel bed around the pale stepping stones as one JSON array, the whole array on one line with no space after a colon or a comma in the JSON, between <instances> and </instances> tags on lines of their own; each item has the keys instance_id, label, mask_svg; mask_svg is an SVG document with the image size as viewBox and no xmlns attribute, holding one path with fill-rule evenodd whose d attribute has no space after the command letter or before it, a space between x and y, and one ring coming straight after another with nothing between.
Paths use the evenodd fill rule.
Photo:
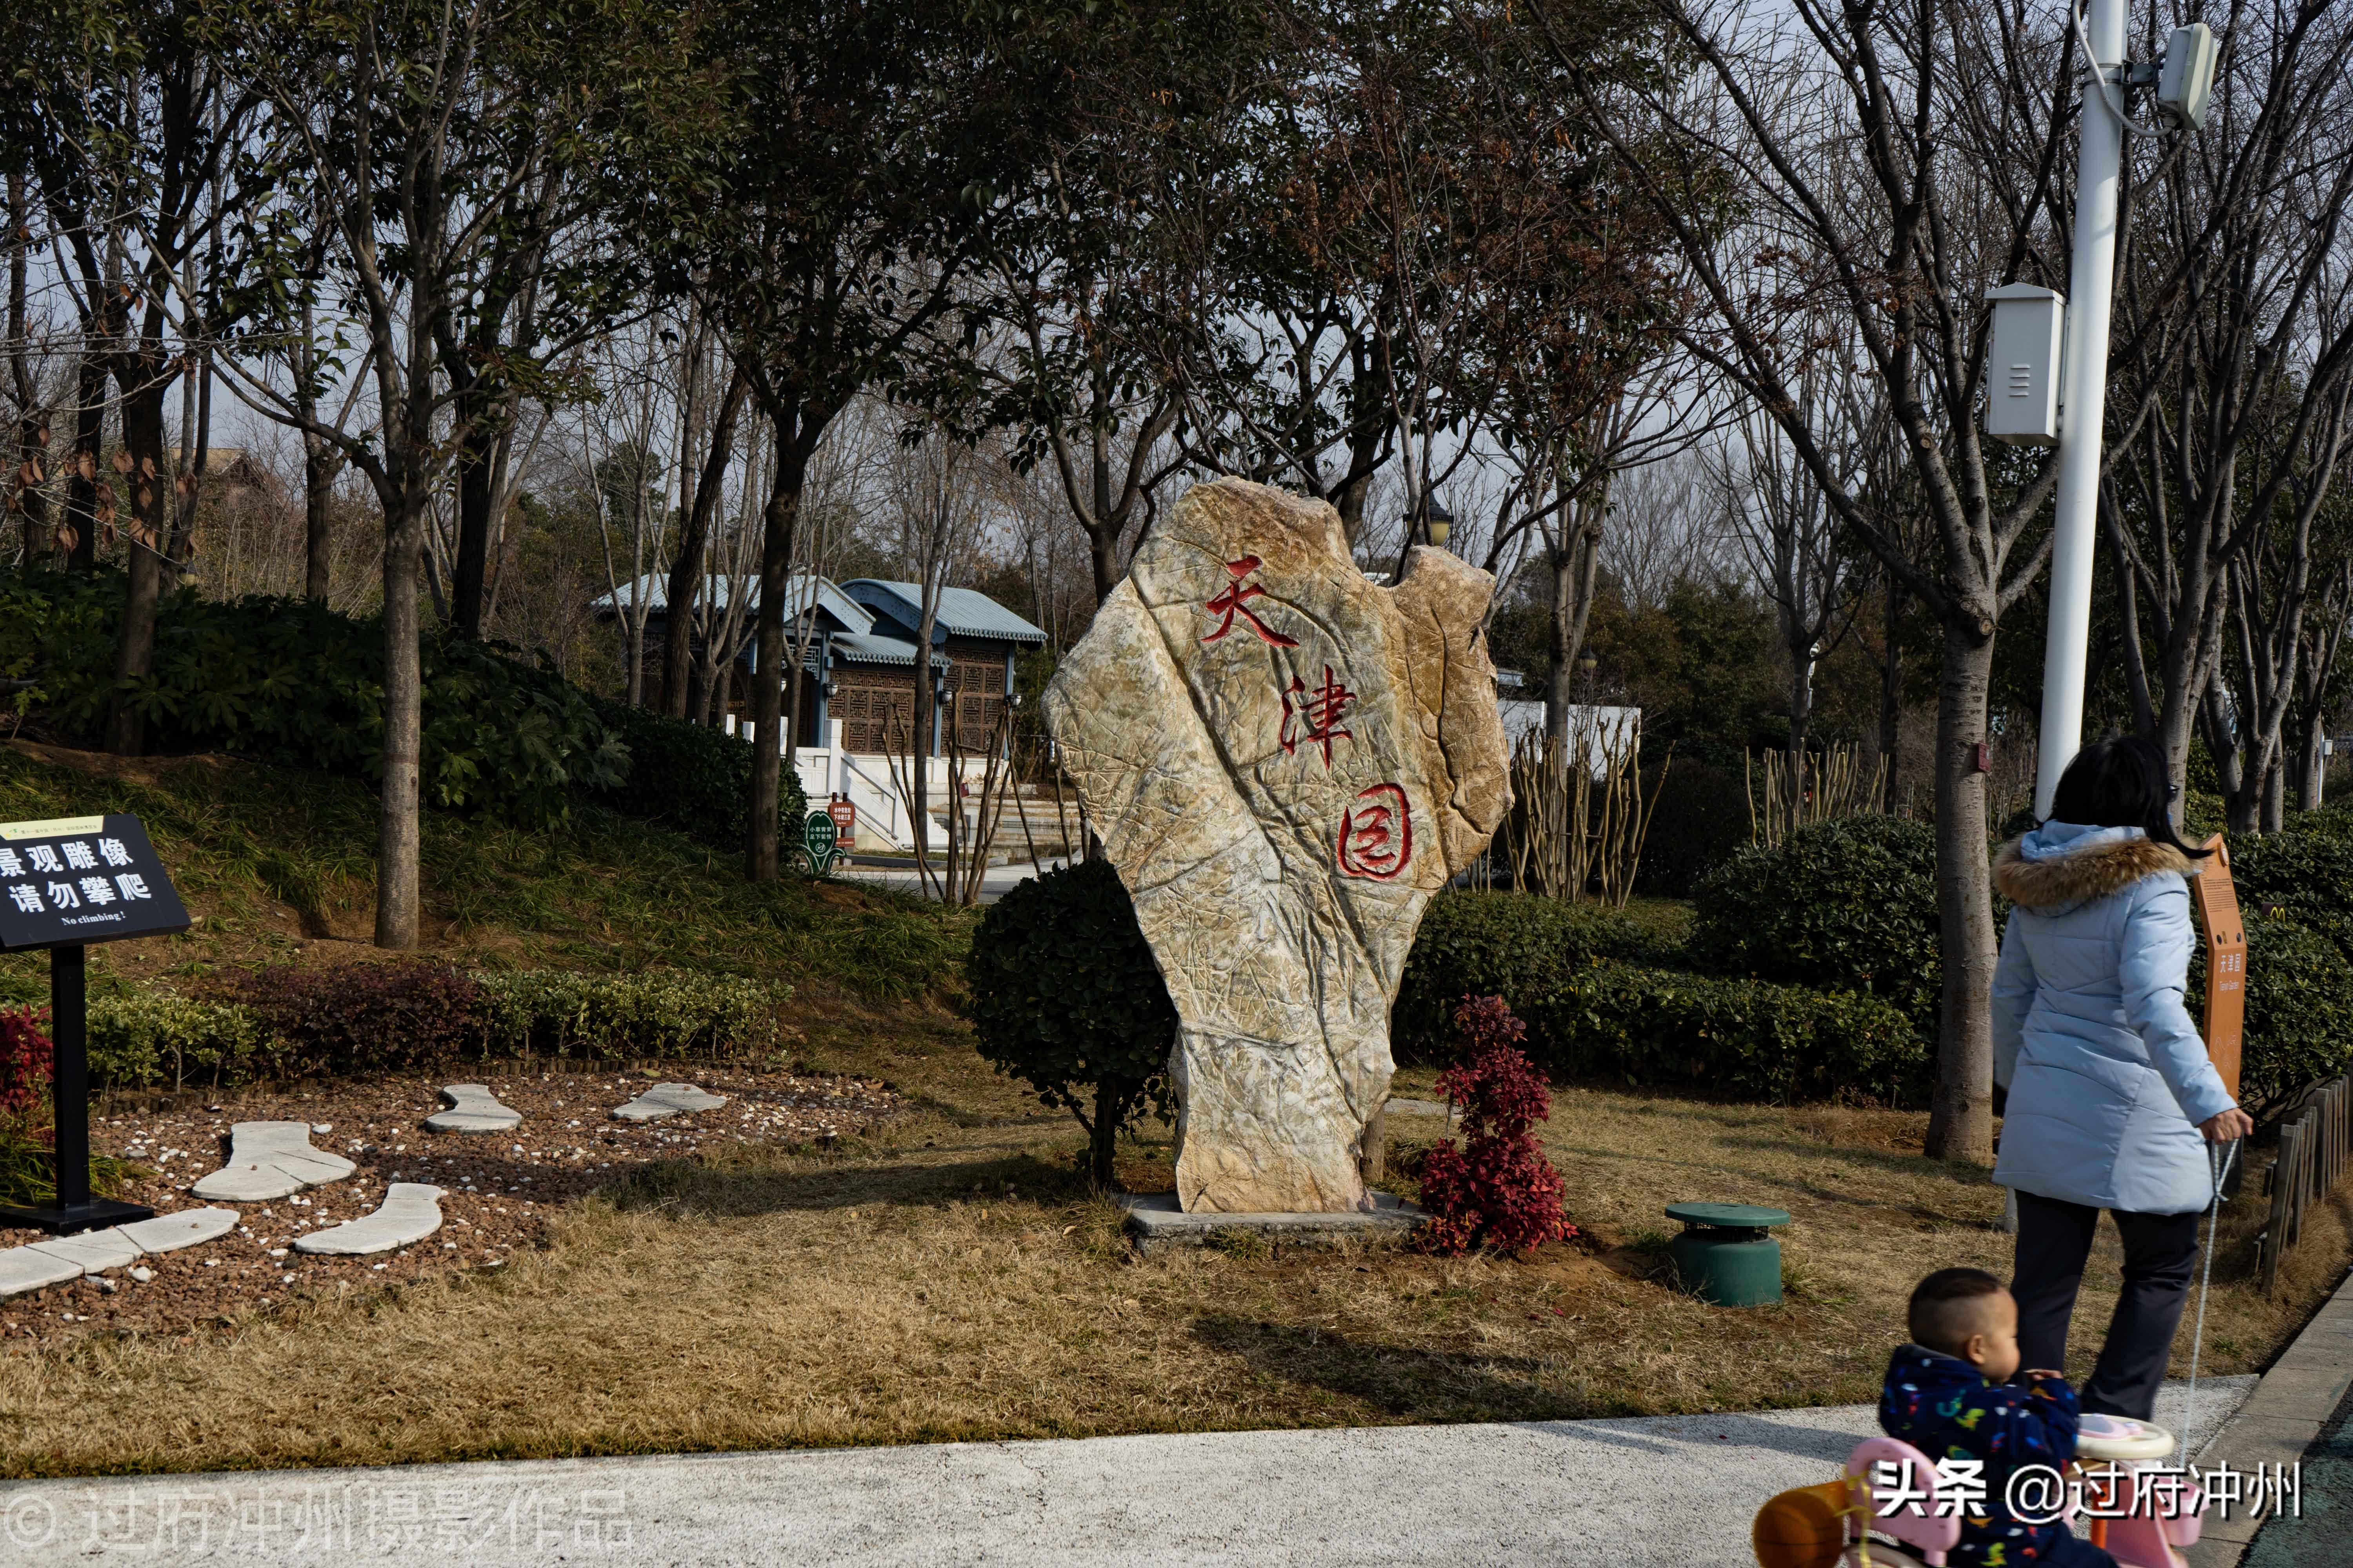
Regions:
<instances>
[{"instance_id":1,"label":"reddish-brown gravel bed around the pale stepping stones","mask_svg":"<svg viewBox=\"0 0 2353 1568\"><path fill-rule=\"evenodd\" d=\"M506 1133L428 1133L440 1086L480 1081L522 1112ZM727 1105L664 1121L614 1121L612 1107L656 1081L692 1081ZM238 1229L176 1253L139 1258L132 1269L85 1274L0 1302L0 1347L21 1354L82 1335L167 1335L198 1331L301 1300L374 1291L391 1281L504 1265L536 1246L548 1215L586 1192L661 1159L694 1159L706 1147L826 1143L906 1110L873 1079L791 1072L673 1070L553 1072L532 1077L442 1077L311 1084L224 1098L151 1114L92 1119L101 1154L136 1161L148 1175L118 1197L158 1213L202 1208L188 1192L228 1159L233 1121L308 1121L311 1145L351 1159L353 1175L304 1187L268 1204L221 1204ZM294 1237L374 1213L386 1182L431 1182L445 1192L433 1237L374 1258L313 1258ZM40 1241L33 1229L0 1229L0 1246Z\"/></svg>"}]
</instances>

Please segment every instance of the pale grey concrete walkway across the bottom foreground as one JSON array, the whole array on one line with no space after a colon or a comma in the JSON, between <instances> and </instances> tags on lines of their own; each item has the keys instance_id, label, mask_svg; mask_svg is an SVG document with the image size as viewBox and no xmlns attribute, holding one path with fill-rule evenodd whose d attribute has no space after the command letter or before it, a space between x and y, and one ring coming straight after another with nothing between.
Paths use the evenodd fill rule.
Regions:
<instances>
[{"instance_id":1,"label":"pale grey concrete walkway across the bottom foreground","mask_svg":"<svg viewBox=\"0 0 2353 1568\"><path fill-rule=\"evenodd\" d=\"M2198 1385L2193 1448L2254 1378ZM2181 1389L2158 1420L2179 1420ZM1741 1568L1871 1406L0 1486L0 1563Z\"/></svg>"}]
</instances>

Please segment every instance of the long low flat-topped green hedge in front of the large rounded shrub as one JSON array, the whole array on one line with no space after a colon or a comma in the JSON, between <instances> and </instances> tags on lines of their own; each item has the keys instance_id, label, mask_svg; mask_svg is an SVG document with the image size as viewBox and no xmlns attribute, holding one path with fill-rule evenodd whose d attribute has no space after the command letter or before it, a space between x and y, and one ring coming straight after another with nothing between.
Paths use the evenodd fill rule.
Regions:
<instances>
[{"instance_id":1,"label":"long low flat-topped green hedge in front of the large rounded shrub","mask_svg":"<svg viewBox=\"0 0 2353 1568\"><path fill-rule=\"evenodd\" d=\"M1595 964L1515 1011L1529 1053L1558 1077L1901 1105L1929 1088L1929 1048L1911 1018L1859 992Z\"/></svg>"}]
</instances>

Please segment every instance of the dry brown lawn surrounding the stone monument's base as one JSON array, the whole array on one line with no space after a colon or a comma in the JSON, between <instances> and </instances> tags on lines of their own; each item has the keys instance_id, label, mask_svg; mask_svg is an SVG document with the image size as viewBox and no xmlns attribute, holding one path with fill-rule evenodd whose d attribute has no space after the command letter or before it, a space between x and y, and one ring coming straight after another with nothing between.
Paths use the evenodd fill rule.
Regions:
<instances>
[{"instance_id":1,"label":"dry brown lawn surrounding the stone monument's base","mask_svg":"<svg viewBox=\"0 0 2353 1568\"><path fill-rule=\"evenodd\" d=\"M1139 1260L1118 1213L1073 1175L1075 1124L993 1079L958 1025L845 1018L812 1034L816 1065L889 1077L927 1110L833 1154L656 1166L572 1208L551 1246L499 1272L299 1302L188 1345L9 1356L0 1469L1866 1401L1922 1272L2007 1272L2007 1237L1991 1229L2000 1192L1922 1159L1915 1114L1591 1088L1560 1091L1546 1128L1586 1237L1534 1260L1252 1246ZM1438 1131L1421 1124L1393 1128ZM1165 1140L1144 1140L1122 1178L1165 1180L1167 1159ZM1668 1288L1659 1211L1675 1199L1788 1208L1786 1305L1725 1312ZM2242 1272L2259 1206L2249 1190L2233 1211L2221 1272ZM2337 1208L2280 1302L2217 1286L2205 1368L2264 1366L2344 1255ZM2113 1284L2111 1241L2085 1291L2082 1347Z\"/></svg>"}]
</instances>

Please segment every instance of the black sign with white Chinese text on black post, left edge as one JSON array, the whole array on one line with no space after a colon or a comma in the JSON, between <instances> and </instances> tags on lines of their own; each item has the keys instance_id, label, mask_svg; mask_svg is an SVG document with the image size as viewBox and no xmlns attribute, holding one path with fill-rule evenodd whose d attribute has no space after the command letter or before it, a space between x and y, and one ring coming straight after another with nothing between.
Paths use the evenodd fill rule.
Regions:
<instances>
[{"instance_id":1,"label":"black sign with white Chinese text on black post, left edge","mask_svg":"<svg viewBox=\"0 0 2353 1568\"><path fill-rule=\"evenodd\" d=\"M89 943L188 929L172 879L136 816L0 823L0 952L49 950L49 1095L56 1204L0 1206L0 1225L66 1237L148 1220L153 1208L89 1194Z\"/></svg>"}]
</instances>

